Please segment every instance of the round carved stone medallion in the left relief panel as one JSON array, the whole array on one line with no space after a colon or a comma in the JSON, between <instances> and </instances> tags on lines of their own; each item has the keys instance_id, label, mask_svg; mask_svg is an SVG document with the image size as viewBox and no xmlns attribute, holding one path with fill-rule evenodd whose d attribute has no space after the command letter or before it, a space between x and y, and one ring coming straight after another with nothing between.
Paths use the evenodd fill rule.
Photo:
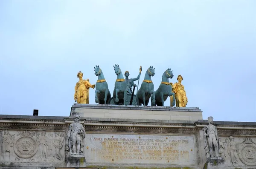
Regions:
<instances>
[{"instance_id":1,"label":"round carved stone medallion in the left relief panel","mask_svg":"<svg viewBox=\"0 0 256 169\"><path fill-rule=\"evenodd\" d=\"M20 137L14 145L14 151L20 158L31 158L37 151L37 145L31 137Z\"/></svg>"}]
</instances>

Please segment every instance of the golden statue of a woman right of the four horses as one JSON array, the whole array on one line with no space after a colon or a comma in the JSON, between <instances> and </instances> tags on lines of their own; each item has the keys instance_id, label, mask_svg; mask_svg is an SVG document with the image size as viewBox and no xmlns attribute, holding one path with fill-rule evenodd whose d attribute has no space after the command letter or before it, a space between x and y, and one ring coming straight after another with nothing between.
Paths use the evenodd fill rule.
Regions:
<instances>
[{"instance_id":1,"label":"golden statue of a woman right of the four horses","mask_svg":"<svg viewBox=\"0 0 256 169\"><path fill-rule=\"evenodd\" d=\"M188 98L186 97L186 91L184 89L184 86L181 84L183 77L181 75L178 75L177 80L178 82L174 83L174 85L172 86L172 90L175 93L176 107L186 107L186 104L188 103Z\"/></svg>"}]
</instances>

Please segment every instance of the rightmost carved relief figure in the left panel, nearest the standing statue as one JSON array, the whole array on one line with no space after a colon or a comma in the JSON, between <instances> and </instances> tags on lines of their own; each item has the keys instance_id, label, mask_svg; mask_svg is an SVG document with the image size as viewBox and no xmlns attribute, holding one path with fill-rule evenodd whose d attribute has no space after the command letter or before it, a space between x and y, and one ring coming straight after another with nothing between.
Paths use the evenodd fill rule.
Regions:
<instances>
[{"instance_id":1,"label":"rightmost carved relief figure in the left panel, nearest the standing statue","mask_svg":"<svg viewBox=\"0 0 256 169\"><path fill-rule=\"evenodd\" d=\"M53 147L54 147L54 157L58 160L62 160L63 157L61 155L61 148L63 146L64 137L60 136L60 132L55 132L55 138L53 140Z\"/></svg>"}]
</instances>

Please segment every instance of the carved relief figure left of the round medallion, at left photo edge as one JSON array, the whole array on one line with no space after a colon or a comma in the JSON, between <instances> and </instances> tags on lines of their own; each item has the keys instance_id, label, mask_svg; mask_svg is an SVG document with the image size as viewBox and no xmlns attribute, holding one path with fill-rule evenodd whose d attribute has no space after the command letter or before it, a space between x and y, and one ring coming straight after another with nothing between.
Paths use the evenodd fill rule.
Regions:
<instances>
[{"instance_id":1,"label":"carved relief figure left of the round medallion, at left photo edge","mask_svg":"<svg viewBox=\"0 0 256 169\"><path fill-rule=\"evenodd\" d=\"M8 130L5 130L2 137L2 149L1 149L1 154L3 156L4 161L12 160L14 140L15 140L15 134L10 134Z\"/></svg>"}]
</instances>

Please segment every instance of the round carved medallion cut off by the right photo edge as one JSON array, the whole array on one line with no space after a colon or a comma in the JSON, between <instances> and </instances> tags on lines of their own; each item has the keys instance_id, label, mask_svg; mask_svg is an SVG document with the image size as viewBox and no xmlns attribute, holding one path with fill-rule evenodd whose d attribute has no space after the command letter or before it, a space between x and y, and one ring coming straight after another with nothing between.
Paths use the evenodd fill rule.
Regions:
<instances>
[{"instance_id":1,"label":"round carved medallion cut off by the right photo edge","mask_svg":"<svg viewBox=\"0 0 256 169\"><path fill-rule=\"evenodd\" d=\"M256 166L256 146L251 139L245 139L245 143L239 149L239 158L247 166Z\"/></svg>"}]
</instances>

